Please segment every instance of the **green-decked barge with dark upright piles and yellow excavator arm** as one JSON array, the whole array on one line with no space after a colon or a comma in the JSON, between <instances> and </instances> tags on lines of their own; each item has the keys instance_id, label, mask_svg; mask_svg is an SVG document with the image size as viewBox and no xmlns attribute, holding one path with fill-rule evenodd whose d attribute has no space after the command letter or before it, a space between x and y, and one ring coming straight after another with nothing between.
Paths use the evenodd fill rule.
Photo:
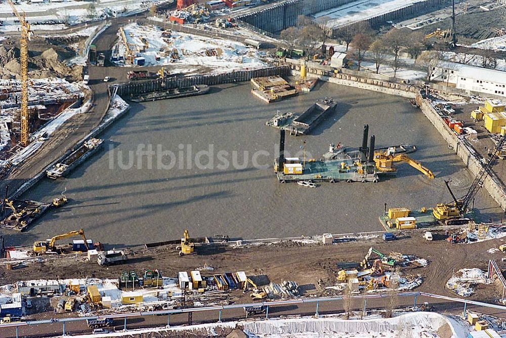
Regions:
<instances>
[{"instance_id":1,"label":"green-decked barge with dark upright piles and yellow excavator arm","mask_svg":"<svg viewBox=\"0 0 506 338\"><path fill-rule=\"evenodd\" d=\"M432 172L411 159L407 152L416 150L415 146L401 144L376 150L375 136L367 144L369 126L364 125L362 146L347 148L341 144L330 144L329 151L321 159L301 159L284 157L285 130L280 130L279 158L274 162L274 171L279 182L378 182L380 176L394 175L397 167L394 162L406 162L430 179ZM384 148L383 148L384 149ZM396 150L399 153L396 153Z\"/></svg>"}]
</instances>

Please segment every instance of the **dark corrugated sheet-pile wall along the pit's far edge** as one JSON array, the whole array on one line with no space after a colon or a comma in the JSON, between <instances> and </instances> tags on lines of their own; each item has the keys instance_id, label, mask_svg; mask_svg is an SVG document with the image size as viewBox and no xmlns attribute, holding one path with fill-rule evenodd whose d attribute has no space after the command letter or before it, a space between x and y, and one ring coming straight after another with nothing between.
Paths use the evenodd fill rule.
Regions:
<instances>
[{"instance_id":1,"label":"dark corrugated sheet-pile wall along the pit's far edge","mask_svg":"<svg viewBox=\"0 0 506 338\"><path fill-rule=\"evenodd\" d=\"M181 78L157 78L154 80L131 81L117 85L117 94L120 96L129 94L142 94L162 91L172 88L190 87L193 85L220 85L221 83L249 81L254 77L271 75L289 75L289 66L270 67L264 69L241 70L230 73L214 75L186 76Z\"/></svg>"}]
</instances>

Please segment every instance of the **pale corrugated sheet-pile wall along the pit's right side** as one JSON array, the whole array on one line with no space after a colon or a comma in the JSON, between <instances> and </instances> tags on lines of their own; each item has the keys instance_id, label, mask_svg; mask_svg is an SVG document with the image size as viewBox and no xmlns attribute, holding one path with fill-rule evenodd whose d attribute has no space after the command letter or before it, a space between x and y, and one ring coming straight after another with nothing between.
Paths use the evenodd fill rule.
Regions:
<instances>
[{"instance_id":1,"label":"pale corrugated sheet-pile wall along the pit's right side","mask_svg":"<svg viewBox=\"0 0 506 338\"><path fill-rule=\"evenodd\" d=\"M435 126L436 130L441 134L443 139L448 142L448 145L455 150L455 153L462 159L473 175L477 176L482 168L481 162L478 158L470 152L470 150L463 144L462 140L459 140L450 128L443 122L441 117L438 115L434 107L427 101L422 99L420 96L417 97L417 102L420 103L420 109L425 116ZM492 198L499 204L499 206L506 210L506 191L504 184L496 177L495 174L489 175L485 179L483 185L487 189L488 193Z\"/></svg>"}]
</instances>

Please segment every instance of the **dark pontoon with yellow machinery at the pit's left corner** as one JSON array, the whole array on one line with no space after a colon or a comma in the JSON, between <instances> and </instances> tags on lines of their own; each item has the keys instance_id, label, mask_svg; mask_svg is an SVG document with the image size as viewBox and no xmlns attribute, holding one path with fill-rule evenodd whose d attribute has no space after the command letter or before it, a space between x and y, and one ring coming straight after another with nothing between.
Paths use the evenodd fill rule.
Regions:
<instances>
[{"instance_id":1,"label":"dark pontoon with yellow machinery at the pit's left corner","mask_svg":"<svg viewBox=\"0 0 506 338\"><path fill-rule=\"evenodd\" d=\"M0 221L0 228L24 231L49 208L48 203L32 200L14 200L7 203L11 213Z\"/></svg>"}]
</instances>

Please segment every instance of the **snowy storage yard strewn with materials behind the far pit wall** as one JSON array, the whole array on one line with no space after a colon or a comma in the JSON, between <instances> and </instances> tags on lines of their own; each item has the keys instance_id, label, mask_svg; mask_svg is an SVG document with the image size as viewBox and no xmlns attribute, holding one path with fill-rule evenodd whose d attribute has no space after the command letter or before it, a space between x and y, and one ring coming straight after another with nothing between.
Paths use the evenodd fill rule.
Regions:
<instances>
[{"instance_id":1,"label":"snowy storage yard strewn with materials behind the far pit wall","mask_svg":"<svg viewBox=\"0 0 506 338\"><path fill-rule=\"evenodd\" d=\"M126 25L124 31L131 49L133 46L143 46L141 38L148 41L149 47L146 51L137 53L146 59L146 65L163 65L171 73L195 72L202 67L213 68L211 73L216 73L266 66L260 60L260 54L256 49L235 41L175 31L171 36L162 36L163 32L159 28L140 26L136 23ZM121 39L118 50L119 55L125 50ZM175 50L179 59L171 57ZM159 61L155 60L157 55L160 57Z\"/></svg>"}]
</instances>

